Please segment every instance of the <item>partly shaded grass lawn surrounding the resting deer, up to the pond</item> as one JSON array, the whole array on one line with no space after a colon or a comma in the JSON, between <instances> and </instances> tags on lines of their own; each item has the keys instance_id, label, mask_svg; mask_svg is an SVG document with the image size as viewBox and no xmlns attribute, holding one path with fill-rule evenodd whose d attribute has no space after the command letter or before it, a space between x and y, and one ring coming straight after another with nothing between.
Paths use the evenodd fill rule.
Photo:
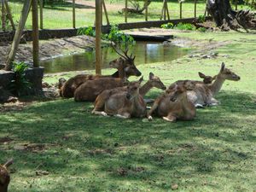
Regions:
<instances>
[{"instance_id":1,"label":"partly shaded grass lawn surrounding the resting deer, up to the pond","mask_svg":"<svg viewBox=\"0 0 256 192\"><path fill-rule=\"evenodd\" d=\"M256 190L255 34L177 36L228 44L211 50L218 52L216 59L186 55L139 69L144 77L154 72L168 85L177 79L198 79L199 71L214 75L224 61L241 81L225 82L217 96L220 106L199 109L194 121L177 123L99 117L90 114L92 103L73 99L0 113L0 141L12 139L0 143L0 160L15 159L9 191L158 192L171 191L174 183L177 191ZM160 92L152 90L148 97ZM37 176L38 170L49 175Z\"/></svg>"}]
</instances>

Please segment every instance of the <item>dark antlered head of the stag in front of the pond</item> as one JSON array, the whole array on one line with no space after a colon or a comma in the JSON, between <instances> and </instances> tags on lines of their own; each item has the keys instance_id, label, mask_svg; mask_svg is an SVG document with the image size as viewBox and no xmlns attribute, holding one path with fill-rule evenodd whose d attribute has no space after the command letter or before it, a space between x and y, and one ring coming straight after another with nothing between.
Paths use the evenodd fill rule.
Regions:
<instances>
[{"instance_id":1,"label":"dark antlered head of the stag in front of the pond","mask_svg":"<svg viewBox=\"0 0 256 192\"><path fill-rule=\"evenodd\" d=\"M109 66L117 69L123 69L125 71L125 76L130 77L132 75L134 76L141 76L142 73L137 69L137 67L134 64L135 55L133 56L128 55L128 49L125 51L121 49L122 53L120 53L112 44L112 47L114 51L120 55L118 59L115 59L113 61L109 62Z\"/></svg>"}]
</instances>

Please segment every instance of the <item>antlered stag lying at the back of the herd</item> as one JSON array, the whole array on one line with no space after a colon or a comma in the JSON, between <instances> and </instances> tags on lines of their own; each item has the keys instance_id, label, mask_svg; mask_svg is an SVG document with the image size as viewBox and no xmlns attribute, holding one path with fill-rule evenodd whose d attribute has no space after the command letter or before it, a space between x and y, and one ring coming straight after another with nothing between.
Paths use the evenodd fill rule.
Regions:
<instances>
[{"instance_id":1,"label":"antlered stag lying at the back of the herd","mask_svg":"<svg viewBox=\"0 0 256 192\"><path fill-rule=\"evenodd\" d=\"M60 96L71 98L74 96L75 90L84 82L88 80L102 79L102 78L129 78L131 76L141 76L141 72L137 69L134 64L136 56L128 55L128 49L121 50L123 53L120 53L117 49L115 52L120 55L118 59L109 62L109 66L113 68L117 68L118 71L113 73L112 75L92 75L92 74L78 74L71 79L68 79L63 83L63 79L60 81ZM61 84L63 84L61 86Z\"/></svg>"}]
</instances>

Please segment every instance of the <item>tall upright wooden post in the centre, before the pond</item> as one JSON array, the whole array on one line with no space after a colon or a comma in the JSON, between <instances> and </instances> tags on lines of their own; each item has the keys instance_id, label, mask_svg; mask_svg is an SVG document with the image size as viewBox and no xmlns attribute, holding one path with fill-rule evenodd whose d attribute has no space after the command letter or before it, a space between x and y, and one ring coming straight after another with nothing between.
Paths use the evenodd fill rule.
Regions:
<instances>
[{"instance_id":1,"label":"tall upright wooden post in the centre, before the pond","mask_svg":"<svg viewBox=\"0 0 256 192\"><path fill-rule=\"evenodd\" d=\"M102 74L102 0L96 0L96 74Z\"/></svg>"}]
</instances>

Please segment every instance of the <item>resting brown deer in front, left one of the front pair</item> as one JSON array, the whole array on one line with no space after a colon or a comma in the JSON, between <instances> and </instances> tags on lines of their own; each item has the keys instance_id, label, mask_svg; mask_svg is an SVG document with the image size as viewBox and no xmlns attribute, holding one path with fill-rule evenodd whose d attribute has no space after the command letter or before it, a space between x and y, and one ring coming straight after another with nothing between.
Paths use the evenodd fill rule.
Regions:
<instances>
[{"instance_id":1,"label":"resting brown deer in front, left one of the front pair","mask_svg":"<svg viewBox=\"0 0 256 192\"><path fill-rule=\"evenodd\" d=\"M146 102L139 93L142 81L143 79L138 82L131 82L126 91L120 91L109 96L104 102L104 111L93 110L92 113L104 116L114 115L124 119L146 116Z\"/></svg>"}]
</instances>

